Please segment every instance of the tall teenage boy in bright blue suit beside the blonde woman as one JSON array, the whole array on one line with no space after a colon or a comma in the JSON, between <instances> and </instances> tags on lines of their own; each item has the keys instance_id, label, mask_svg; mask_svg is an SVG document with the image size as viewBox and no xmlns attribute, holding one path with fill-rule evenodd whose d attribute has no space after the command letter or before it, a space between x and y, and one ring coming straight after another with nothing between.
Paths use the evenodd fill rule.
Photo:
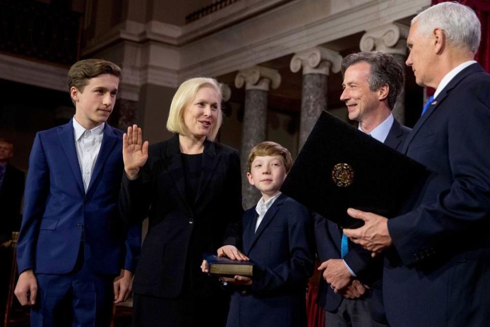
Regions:
<instances>
[{"instance_id":1,"label":"tall teenage boy in bright blue suit beside the blonde woman","mask_svg":"<svg viewBox=\"0 0 490 327\"><path fill-rule=\"evenodd\" d=\"M140 239L138 228L127 232L116 204L122 131L105 123L120 73L99 59L71 66L74 118L34 139L15 289L21 305L33 306L32 326L108 326L113 300L129 296Z\"/></svg>"}]
</instances>

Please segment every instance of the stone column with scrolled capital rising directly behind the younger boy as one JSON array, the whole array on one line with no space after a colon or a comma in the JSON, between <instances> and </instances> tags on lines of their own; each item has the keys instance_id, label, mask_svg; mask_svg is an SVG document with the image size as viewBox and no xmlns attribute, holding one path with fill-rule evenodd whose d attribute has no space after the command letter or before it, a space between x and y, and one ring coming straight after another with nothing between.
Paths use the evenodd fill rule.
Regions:
<instances>
[{"instance_id":1,"label":"stone column with scrolled capital rising directly behind the younger boy","mask_svg":"<svg viewBox=\"0 0 490 327\"><path fill-rule=\"evenodd\" d=\"M241 180L243 207L248 209L257 204L260 193L247 180L248 158L250 150L265 141L267 127L267 95L269 87L277 88L281 76L275 69L253 66L238 72L235 86L245 84L245 112L241 132Z\"/></svg>"}]
</instances>

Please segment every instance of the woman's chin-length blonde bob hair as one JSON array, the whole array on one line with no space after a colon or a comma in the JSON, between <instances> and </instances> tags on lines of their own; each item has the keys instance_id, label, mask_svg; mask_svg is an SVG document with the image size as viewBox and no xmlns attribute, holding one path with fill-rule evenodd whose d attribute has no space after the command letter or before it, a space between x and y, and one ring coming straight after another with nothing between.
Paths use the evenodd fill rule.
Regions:
<instances>
[{"instance_id":1,"label":"woman's chin-length blonde bob hair","mask_svg":"<svg viewBox=\"0 0 490 327\"><path fill-rule=\"evenodd\" d=\"M175 92L172 103L170 104L170 111L168 112L167 130L169 132L188 136L189 130L184 124L184 109L192 100L194 100L195 95L203 87L211 87L218 95L217 120L214 122L213 127L207 136L209 141L214 141L216 134L219 131L219 127L223 122L223 113L221 111L223 94L221 85L214 78L195 77L180 84L177 92Z\"/></svg>"}]
</instances>

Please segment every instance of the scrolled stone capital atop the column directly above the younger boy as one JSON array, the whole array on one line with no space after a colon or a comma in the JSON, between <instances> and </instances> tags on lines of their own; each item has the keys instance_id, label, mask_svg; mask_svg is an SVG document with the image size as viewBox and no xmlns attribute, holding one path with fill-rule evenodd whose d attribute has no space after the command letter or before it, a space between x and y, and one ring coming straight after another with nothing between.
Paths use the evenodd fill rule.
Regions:
<instances>
[{"instance_id":1,"label":"scrolled stone capital atop the column directly above the younger boy","mask_svg":"<svg viewBox=\"0 0 490 327\"><path fill-rule=\"evenodd\" d=\"M272 88L278 88L281 84L281 75L279 75L276 69L253 66L250 68L242 69L236 74L235 86L240 88L245 85L245 89L260 89L264 91L269 90L269 86Z\"/></svg>"}]
</instances>

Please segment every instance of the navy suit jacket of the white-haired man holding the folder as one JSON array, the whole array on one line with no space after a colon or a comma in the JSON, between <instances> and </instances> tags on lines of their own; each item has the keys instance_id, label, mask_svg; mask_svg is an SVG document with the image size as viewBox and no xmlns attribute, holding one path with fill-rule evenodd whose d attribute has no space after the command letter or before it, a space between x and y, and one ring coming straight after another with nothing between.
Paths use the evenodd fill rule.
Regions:
<instances>
[{"instance_id":1,"label":"navy suit jacket of the white-haired man holding the folder","mask_svg":"<svg viewBox=\"0 0 490 327\"><path fill-rule=\"evenodd\" d=\"M429 176L416 203L388 220L383 294L394 326L490 321L490 75L457 74L414 126L403 152Z\"/></svg>"}]
</instances>

